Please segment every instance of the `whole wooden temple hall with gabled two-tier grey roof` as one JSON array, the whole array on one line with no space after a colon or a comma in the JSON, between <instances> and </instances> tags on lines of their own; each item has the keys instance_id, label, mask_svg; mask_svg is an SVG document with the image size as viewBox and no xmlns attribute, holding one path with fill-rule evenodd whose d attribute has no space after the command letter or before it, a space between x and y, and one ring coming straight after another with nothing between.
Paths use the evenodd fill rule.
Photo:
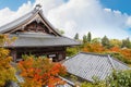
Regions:
<instances>
[{"instance_id":1,"label":"whole wooden temple hall with gabled two-tier grey roof","mask_svg":"<svg viewBox=\"0 0 131 87\"><path fill-rule=\"evenodd\" d=\"M80 45L59 34L43 15L39 5L17 20L1 26L0 34L16 37L12 45L5 46L11 50L14 61L21 60L23 54L34 54L46 55L52 58L53 62L58 62L66 59L67 47Z\"/></svg>"}]
</instances>

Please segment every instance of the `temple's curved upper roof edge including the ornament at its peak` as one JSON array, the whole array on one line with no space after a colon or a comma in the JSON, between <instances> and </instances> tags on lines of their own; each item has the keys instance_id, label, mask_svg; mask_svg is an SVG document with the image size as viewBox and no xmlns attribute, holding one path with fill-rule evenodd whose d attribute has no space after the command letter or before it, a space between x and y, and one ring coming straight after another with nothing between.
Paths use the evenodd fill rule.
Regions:
<instances>
[{"instance_id":1,"label":"temple's curved upper roof edge including the ornament at its peak","mask_svg":"<svg viewBox=\"0 0 131 87\"><path fill-rule=\"evenodd\" d=\"M0 26L0 34L5 34L19 26L24 25L24 23L28 23L29 21L32 21L34 18L34 16L39 15L44 22L44 24L50 28L56 35L58 36L62 36L53 26L52 24L45 17L45 15L43 14L43 9L40 4L36 4L36 7L28 11L27 13L17 16L16 18L10 21L9 23L5 23L3 25Z\"/></svg>"}]
</instances>

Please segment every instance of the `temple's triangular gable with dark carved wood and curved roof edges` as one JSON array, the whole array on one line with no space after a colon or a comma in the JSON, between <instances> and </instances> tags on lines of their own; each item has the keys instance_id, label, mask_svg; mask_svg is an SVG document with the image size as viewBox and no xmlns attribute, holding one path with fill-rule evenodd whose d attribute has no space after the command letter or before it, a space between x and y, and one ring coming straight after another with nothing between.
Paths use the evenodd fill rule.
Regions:
<instances>
[{"instance_id":1,"label":"temple's triangular gable with dark carved wood and curved roof edges","mask_svg":"<svg viewBox=\"0 0 131 87\"><path fill-rule=\"evenodd\" d=\"M0 27L1 34L34 32L46 33L49 35L60 36L60 34L51 26L51 24L43 15L41 10L32 11L24 16Z\"/></svg>"}]
</instances>

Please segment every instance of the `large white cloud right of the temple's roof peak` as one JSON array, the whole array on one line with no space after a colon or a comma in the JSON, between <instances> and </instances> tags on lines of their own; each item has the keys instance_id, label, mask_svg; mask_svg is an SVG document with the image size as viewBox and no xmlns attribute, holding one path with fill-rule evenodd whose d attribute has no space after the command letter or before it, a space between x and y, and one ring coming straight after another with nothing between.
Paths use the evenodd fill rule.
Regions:
<instances>
[{"instance_id":1,"label":"large white cloud right of the temple's roof peak","mask_svg":"<svg viewBox=\"0 0 131 87\"><path fill-rule=\"evenodd\" d=\"M60 7L51 9L48 13L49 21L59 28L66 30L66 35L73 36L91 32L94 37L107 35L110 38L126 38L129 34L127 14L111 9L104 9L98 0L70 0ZM67 25L67 23L73 25ZM74 25L75 24L75 25ZM73 26L73 28L69 27Z\"/></svg>"}]
</instances>

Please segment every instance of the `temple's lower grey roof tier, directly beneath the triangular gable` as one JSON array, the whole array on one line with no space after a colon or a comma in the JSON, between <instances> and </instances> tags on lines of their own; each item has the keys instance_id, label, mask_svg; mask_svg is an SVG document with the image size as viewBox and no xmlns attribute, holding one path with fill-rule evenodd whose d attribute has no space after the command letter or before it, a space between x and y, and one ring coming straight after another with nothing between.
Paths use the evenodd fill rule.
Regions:
<instances>
[{"instance_id":1,"label":"temple's lower grey roof tier, directly beneath the triangular gable","mask_svg":"<svg viewBox=\"0 0 131 87\"><path fill-rule=\"evenodd\" d=\"M59 47L59 46L75 46L80 42L67 38L67 37L56 37L51 35L44 34L15 34L10 37L16 37L16 40L7 47Z\"/></svg>"}]
</instances>

